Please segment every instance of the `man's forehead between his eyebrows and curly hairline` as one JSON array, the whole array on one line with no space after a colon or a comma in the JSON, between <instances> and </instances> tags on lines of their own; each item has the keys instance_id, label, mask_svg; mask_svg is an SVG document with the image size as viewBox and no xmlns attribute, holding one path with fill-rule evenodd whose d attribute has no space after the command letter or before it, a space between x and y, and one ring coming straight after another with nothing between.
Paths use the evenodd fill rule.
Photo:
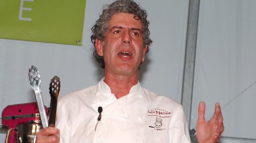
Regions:
<instances>
[{"instance_id":1,"label":"man's forehead between his eyebrows and curly hairline","mask_svg":"<svg viewBox=\"0 0 256 143\"><path fill-rule=\"evenodd\" d=\"M130 13L117 13L112 15L112 19L108 22L109 28L114 26L123 26L127 28L142 28L141 20L137 20L134 18L134 14Z\"/></svg>"}]
</instances>

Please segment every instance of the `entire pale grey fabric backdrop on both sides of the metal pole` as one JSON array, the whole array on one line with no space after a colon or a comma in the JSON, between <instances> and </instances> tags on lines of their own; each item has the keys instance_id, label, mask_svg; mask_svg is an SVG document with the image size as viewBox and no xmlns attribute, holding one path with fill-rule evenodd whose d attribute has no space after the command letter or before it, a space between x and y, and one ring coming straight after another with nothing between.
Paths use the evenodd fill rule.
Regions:
<instances>
[{"instance_id":1,"label":"entire pale grey fabric backdrop on both sides of the metal pole","mask_svg":"<svg viewBox=\"0 0 256 143\"><path fill-rule=\"evenodd\" d=\"M139 71L142 87L181 103L188 0L137 0L148 11L153 40ZM92 55L90 28L102 6L112 0L87 0L82 45L0 39L0 110L11 104L35 102L28 80L38 68L44 103L50 107L49 84L60 77L59 97L92 86L103 77ZM201 0L194 76L191 125L197 107L206 103L205 118L214 104L222 106L228 137L255 137L256 1ZM246 131L246 132L245 132ZM0 133L0 142L6 134Z\"/></svg>"}]
</instances>

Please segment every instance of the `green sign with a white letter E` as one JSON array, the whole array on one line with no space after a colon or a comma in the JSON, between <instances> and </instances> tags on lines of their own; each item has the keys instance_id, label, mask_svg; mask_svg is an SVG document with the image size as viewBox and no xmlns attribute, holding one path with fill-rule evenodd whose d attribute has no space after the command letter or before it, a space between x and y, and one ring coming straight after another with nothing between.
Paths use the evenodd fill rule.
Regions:
<instances>
[{"instance_id":1,"label":"green sign with a white letter E","mask_svg":"<svg viewBox=\"0 0 256 143\"><path fill-rule=\"evenodd\" d=\"M81 45L86 0L0 0L0 38Z\"/></svg>"}]
</instances>

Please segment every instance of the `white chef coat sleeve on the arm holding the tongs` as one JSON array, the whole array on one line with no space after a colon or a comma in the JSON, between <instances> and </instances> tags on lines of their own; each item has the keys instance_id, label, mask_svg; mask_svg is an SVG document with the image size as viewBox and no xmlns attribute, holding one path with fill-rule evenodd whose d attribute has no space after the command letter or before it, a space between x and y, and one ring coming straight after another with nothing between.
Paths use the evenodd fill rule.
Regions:
<instances>
[{"instance_id":1,"label":"white chef coat sleeve on the arm holding the tongs","mask_svg":"<svg viewBox=\"0 0 256 143\"><path fill-rule=\"evenodd\" d=\"M69 143L70 142L70 127L68 124L68 110L69 105L67 102L58 101L57 102L57 117L55 127L60 130L60 142L59 143Z\"/></svg>"}]
</instances>

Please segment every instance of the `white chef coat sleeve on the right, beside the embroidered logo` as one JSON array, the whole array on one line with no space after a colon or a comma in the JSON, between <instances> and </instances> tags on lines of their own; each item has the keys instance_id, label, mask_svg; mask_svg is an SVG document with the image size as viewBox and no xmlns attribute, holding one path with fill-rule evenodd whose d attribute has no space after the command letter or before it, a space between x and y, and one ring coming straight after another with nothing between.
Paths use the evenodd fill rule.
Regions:
<instances>
[{"instance_id":1,"label":"white chef coat sleeve on the right, beside the embroidered logo","mask_svg":"<svg viewBox=\"0 0 256 143\"><path fill-rule=\"evenodd\" d=\"M169 143L191 143L182 105L176 107L172 118L169 126Z\"/></svg>"}]
</instances>

